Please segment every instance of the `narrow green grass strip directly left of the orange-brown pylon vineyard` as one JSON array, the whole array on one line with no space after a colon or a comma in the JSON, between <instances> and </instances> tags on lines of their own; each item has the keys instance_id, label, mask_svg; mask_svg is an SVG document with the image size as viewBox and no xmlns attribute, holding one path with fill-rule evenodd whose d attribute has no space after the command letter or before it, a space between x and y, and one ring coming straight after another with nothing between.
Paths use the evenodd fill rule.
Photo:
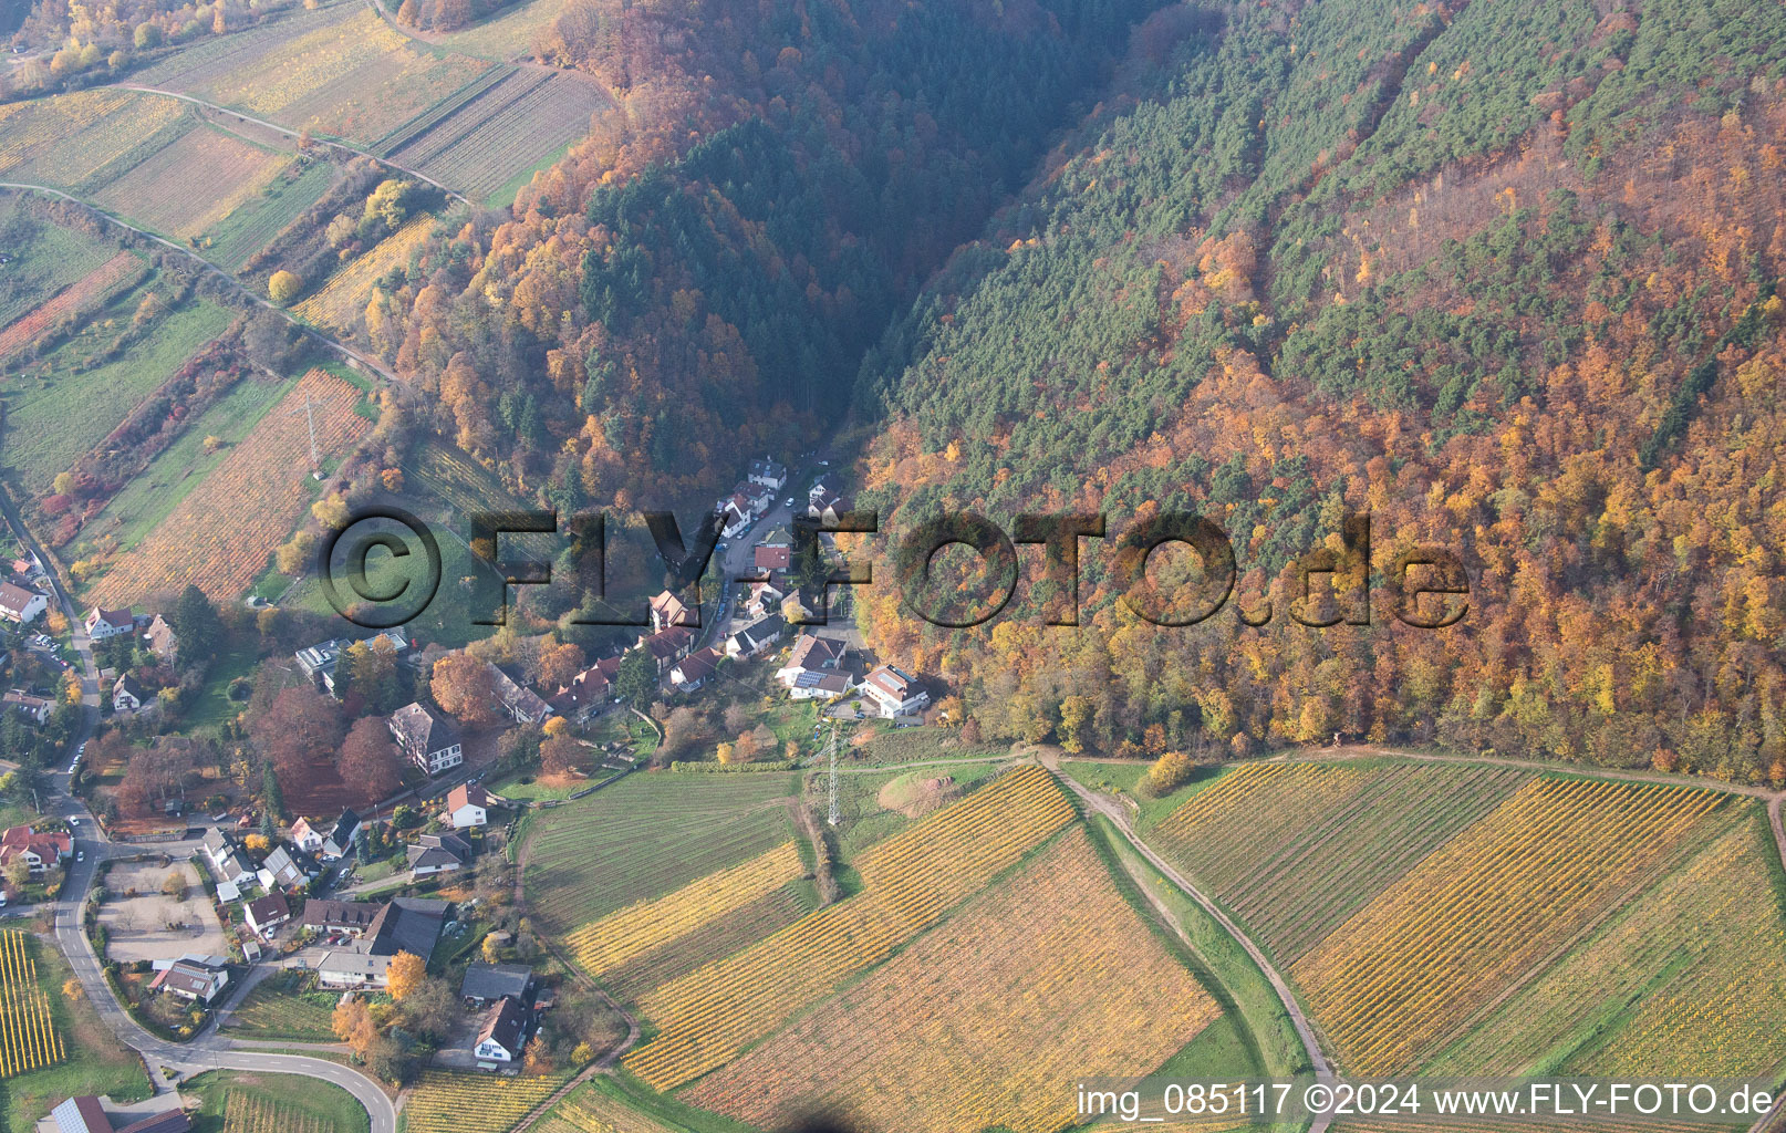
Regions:
<instances>
[{"instance_id":1,"label":"narrow green grass strip directly left of the orange-brown pylon vineyard","mask_svg":"<svg viewBox=\"0 0 1786 1133\"><path fill-rule=\"evenodd\" d=\"M104 511L88 520L82 536L109 536L116 540L120 550L136 547L143 536L168 518L168 513L193 488L229 459L230 447L241 443L254 431L266 411L291 390L291 384L289 381L275 382L259 377L236 382L236 388L218 399L198 420L188 424L186 431L163 449L148 468L125 484L105 504ZM216 436L223 447L216 452L205 452L207 436Z\"/></svg>"}]
</instances>

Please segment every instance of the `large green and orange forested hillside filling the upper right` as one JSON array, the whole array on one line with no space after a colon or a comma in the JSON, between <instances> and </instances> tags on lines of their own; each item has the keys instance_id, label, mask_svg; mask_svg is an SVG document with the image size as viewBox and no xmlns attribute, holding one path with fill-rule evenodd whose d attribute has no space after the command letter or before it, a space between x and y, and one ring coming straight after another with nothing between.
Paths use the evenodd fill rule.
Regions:
<instances>
[{"instance_id":1,"label":"large green and orange forested hillside filling the upper right","mask_svg":"<svg viewBox=\"0 0 1786 1133\"><path fill-rule=\"evenodd\" d=\"M880 586L873 640L988 736L1338 731L1786 779L1786 13L1200 11L1147 23L1123 95L859 379L882 540L943 508L1102 511L1086 625L1043 625L1025 583L939 631ZM1159 511L1234 543L1202 625L1114 600L1106 547ZM1293 622L1281 575L1347 511L1379 584L1398 549L1452 549L1465 620Z\"/></svg>"}]
</instances>

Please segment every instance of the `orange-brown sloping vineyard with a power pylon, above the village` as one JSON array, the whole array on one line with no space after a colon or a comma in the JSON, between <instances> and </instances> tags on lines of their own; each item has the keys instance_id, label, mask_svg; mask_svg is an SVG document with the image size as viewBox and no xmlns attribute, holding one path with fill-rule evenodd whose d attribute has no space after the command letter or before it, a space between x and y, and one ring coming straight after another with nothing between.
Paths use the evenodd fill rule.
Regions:
<instances>
[{"instance_id":1,"label":"orange-brown sloping vineyard with a power pylon, above the village","mask_svg":"<svg viewBox=\"0 0 1786 1133\"><path fill-rule=\"evenodd\" d=\"M327 370L311 370L136 550L89 588L88 600L129 604L143 593L186 584L229 600L246 590L313 499L305 399L314 406L316 443L325 459L371 427L355 411L361 400L355 386Z\"/></svg>"}]
</instances>

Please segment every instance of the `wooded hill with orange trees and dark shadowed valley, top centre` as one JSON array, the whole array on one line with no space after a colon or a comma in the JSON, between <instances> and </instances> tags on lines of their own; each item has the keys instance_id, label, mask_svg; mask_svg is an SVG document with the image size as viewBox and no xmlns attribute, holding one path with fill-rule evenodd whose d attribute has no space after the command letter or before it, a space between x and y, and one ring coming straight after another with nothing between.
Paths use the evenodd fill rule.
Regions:
<instances>
[{"instance_id":1,"label":"wooded hill with orange trees and dark shadowed valley, top centre","mask_svg":"<svg viewBox=\"0 0 1786 1133\"><path fill-rule=\"evenodd\" d=\"M1148 0L580 4L618 109L366 311L443 434L564 508L809 443L863 350L1095 97ZM1089 105L1089 98L1086 102Z\"/></svg>"}]
</instances>

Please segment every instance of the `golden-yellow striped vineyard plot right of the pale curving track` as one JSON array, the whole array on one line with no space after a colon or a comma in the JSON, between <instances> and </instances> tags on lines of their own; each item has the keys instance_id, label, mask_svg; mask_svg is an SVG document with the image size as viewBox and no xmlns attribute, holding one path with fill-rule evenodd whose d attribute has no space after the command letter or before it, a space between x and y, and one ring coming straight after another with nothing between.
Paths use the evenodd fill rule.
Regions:
<instances>
[{"instance_id":1,"label":"golden-yellow striped vineyard plot right of the pale curving track","mask_svg":"<svg viewBox=\"0 0 1786 1133\"><path fill-rule=\"evenodd\" d=\"M1289 969L1356 1074L1429 1060L1702 831L1709 790L1534 779Z\"/></svg>"}]
</instances>

